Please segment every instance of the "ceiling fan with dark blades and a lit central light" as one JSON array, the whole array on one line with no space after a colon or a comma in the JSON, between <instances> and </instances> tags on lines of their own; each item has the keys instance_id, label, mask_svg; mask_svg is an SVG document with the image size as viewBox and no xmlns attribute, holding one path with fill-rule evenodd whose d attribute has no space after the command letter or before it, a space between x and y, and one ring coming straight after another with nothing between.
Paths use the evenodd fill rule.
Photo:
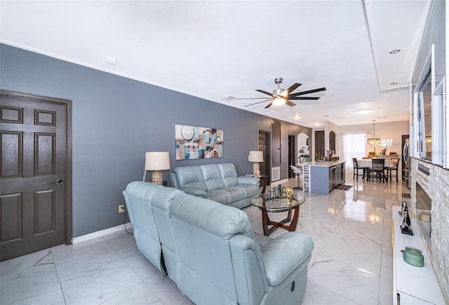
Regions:
<instances>
[{"instance_id":1,"label":"ceiling fan with dark blades and a lit central light","mask_svg":"<svg viewBox=\"0 0 449 305\"><path fill-rule=\"evenodd\" d=\"M272 107L273 105L279 106L282 104L288 104L288 106L294 107L294 106L296 106L296 104L294 102L291 102L290 100L318 100L320 97L303 97L300 95L316 93L316 92L326 90L326 88L323 87L323 88L316 88L316 89L312 89L312 90L292 93L296 88L301 86L302 83L293 83L292 86L288 87L287 89L283 89L283 88L281 88L281 83L282 83L281 77L276 77L276 79L274 79L274 82L278 85L278 88L274 89L273 93L269 93L267 91L260 90L260 89L256 90L260 93L269 95L271 97L270 99L266 100L266 97L249 97L249 98L239 98L238 100L263 100L262 102L268 102L269 100L271 100L271 102L269 102L269 104L267 104L267 106L265 106L265 108ZM254 104L260 104L262 102L255 102L253 104L247 104L243 107L248 107L248 106L251 106Z\"/></svg>"}]
</instances>

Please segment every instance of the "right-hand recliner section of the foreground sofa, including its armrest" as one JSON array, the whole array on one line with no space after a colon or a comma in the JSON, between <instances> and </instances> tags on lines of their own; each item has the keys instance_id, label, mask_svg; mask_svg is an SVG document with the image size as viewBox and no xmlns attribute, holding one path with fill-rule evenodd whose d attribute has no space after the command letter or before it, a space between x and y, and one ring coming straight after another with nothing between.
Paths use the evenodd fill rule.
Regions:
<instances>
[{"instance_id":1,"label":"right-hand recliner section of the foreground sofa, including its armrest","mask_svg":"<svg viewBox=\"0 0 449 305\"><path fill-rule=\"evenodd\" d=\"M245 212L183 199L170 206L182 293L196 304L301 303L314 249L309 236L286 232L256 240Z\"/></svg>"}]
</instances>

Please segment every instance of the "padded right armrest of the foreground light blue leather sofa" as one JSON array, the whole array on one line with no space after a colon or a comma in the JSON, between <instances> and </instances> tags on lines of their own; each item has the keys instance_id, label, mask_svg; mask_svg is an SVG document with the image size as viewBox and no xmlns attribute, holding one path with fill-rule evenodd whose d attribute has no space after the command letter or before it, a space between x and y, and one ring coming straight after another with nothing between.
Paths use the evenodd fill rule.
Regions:
<instances>
[{"instance_id":1,"label":"padded right armrest of the foreground light blue leather sofa","mask_svg":"<svg viewBox=\"0 0 449 305\"><path fill-rule=\"evenodd\" d=\"M266 243L261 250L268 283L276 286L299 266L309 262L314 240L303 233L287 232Z\"/></svg>"}]
</instances>

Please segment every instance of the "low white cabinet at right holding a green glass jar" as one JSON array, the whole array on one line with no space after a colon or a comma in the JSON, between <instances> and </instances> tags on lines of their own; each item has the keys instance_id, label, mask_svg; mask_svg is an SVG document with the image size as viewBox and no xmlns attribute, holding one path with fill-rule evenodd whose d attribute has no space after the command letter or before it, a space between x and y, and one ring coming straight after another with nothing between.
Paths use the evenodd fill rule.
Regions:
<instances>
[{"instance_id":1,"label":"low white cabinet at right holding a green glass jar","mask_svg":"<svg viewBox=\"0 0 449 305\"><path fill-rule=\"evenodd\" d=\"M410 219L413 236L402 234L402 217L398 214L401 207L393 206L391 221L393 243L393 304L445 304L443 293L438 285L434 269L431 266L415 218ZM422 250L424 266L416 267L403 260L401 250L413 247Z\"/></svg>"}]
</instances>

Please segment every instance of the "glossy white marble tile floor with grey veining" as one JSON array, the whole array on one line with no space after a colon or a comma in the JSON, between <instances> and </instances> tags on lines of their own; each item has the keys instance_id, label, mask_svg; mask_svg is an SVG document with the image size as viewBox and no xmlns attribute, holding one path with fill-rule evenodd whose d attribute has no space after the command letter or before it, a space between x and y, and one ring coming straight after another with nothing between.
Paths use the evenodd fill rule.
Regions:
<instances>
[{"instance_id":1,"label":"glossy white marble tile floor with grey veining","mask_svg":"<svg viewBox=\"0 0 449 305\"><path fill-rule=\"evenodd\" d=\"M402 198L410 190L401 182L357 181L352 175L346 184L354 187L328 196L306 193L300 208L296 231L315 242L303 305L392 303L391 206L410 201ZM283 184L295 185L295 179ZM260 210L243 210L262 233ZM285 232L276 229L270 237ZM124 231L1 262L0 292L2 305L192 304Z\"/></svg>"}]
</instances>

